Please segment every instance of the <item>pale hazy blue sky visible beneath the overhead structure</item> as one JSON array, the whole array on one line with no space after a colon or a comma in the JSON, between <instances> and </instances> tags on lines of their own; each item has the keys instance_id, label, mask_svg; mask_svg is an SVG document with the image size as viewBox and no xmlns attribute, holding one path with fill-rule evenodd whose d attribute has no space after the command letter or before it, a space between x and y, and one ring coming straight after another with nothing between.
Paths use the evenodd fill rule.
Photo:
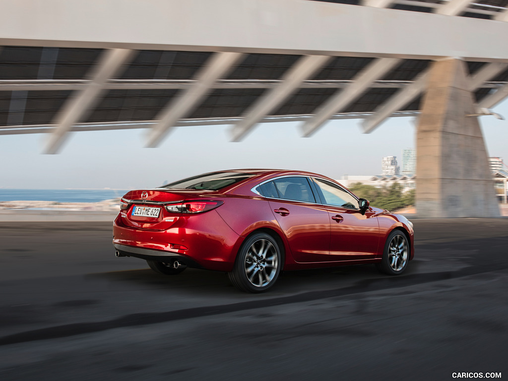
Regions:
<instances>
[{"instance_id":1,"label":"pale hazy blue sky visible beneath the overhead structure","mask_svg":"<svg viewBox=\"0 0 508 381\"><path fill-rule=\"evenodd\" d=\"M508 100L492 110L508 118ZM508 120L479 118L487 152L508 164ZM416 148L415 118L387 119L362 134L360 119L328 121L310 138L300 122L258 124L241 142L228 125L178 127L158 148L144 148L147 130L71 133L59 154L42 154L46 134L0 135L0 188L134 189L237 168L279 168L343 175L378 175L383 156Z\"/></svg>"}]
</instances>

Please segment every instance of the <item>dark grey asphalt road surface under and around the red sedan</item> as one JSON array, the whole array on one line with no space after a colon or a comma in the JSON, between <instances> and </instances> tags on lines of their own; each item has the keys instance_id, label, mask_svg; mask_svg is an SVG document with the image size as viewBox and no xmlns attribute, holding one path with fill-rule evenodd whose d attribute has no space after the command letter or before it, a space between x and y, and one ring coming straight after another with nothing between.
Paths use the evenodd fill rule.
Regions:
<instances>
[{"instance_id":1,"label":"dark grey asphalt road surface under and around the red sedan","mask_svg":"<svg viewBox=\"0 0 508 381\"><path fill-rule=\"evenodd\" d=\"M508 218L415 220L399 277L223 273L115 258L111 224L0 223L0 380L508 378Z\"/></svg>"}]
</instances>

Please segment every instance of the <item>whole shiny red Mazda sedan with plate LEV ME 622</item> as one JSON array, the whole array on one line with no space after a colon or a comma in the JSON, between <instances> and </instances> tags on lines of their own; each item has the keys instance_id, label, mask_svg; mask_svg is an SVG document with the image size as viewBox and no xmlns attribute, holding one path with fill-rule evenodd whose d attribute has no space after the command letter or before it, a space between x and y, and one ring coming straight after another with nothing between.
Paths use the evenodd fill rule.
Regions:
<instances>
[{"instance_id":1,"label":"whole shiny red Mazda sedan with plate LEV ME 622","mask_svg":"<svg viewBox=\"0 0 508 381\"><path fill-rule=\"evenodd\" d=\"M334 180L308 172L245 169L206 173L121 199L117 257L155 271L226 271L246 292L280 271L374 263L390 275L414 257L412 224L373 208Z\"/></svg>"}]
</instances>

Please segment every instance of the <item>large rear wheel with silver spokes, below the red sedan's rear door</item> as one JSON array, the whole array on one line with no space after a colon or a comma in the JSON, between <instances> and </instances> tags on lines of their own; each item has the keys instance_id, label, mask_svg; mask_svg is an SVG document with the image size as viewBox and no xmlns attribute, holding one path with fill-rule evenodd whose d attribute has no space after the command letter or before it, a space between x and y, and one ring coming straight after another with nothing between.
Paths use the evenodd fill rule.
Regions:
<instances>
[{"instance_id":1,"label":"large rear wheel with silver spokes, below the red sedan's rear door","mask_svg":"<svg viewBox=\"0 0 508 381\"><path fill-rule=\"evenodd\" d=\"M228 275L239 290L262 293L273 287L281 267L279 244L272 236L260 232L243 242Z\"/></svg>"}]
</instances>

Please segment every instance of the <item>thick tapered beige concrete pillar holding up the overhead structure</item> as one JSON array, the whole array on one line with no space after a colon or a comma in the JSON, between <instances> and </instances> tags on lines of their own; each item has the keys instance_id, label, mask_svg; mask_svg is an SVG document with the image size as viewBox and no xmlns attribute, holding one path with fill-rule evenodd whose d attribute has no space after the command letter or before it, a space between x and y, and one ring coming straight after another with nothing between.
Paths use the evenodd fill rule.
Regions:
<instances>
[{"instance_id":1,"label":"thick tapered beige concrete pillar holding up the overhead structure","mask_svg":"<svg viewBox=\"0 0 508 381\"><path fill-rule=\"evenodd\" d=\"M419 217L499 216L482 130L465 62L432 63L417 126Z\"/></svg>"}]
</instances>

